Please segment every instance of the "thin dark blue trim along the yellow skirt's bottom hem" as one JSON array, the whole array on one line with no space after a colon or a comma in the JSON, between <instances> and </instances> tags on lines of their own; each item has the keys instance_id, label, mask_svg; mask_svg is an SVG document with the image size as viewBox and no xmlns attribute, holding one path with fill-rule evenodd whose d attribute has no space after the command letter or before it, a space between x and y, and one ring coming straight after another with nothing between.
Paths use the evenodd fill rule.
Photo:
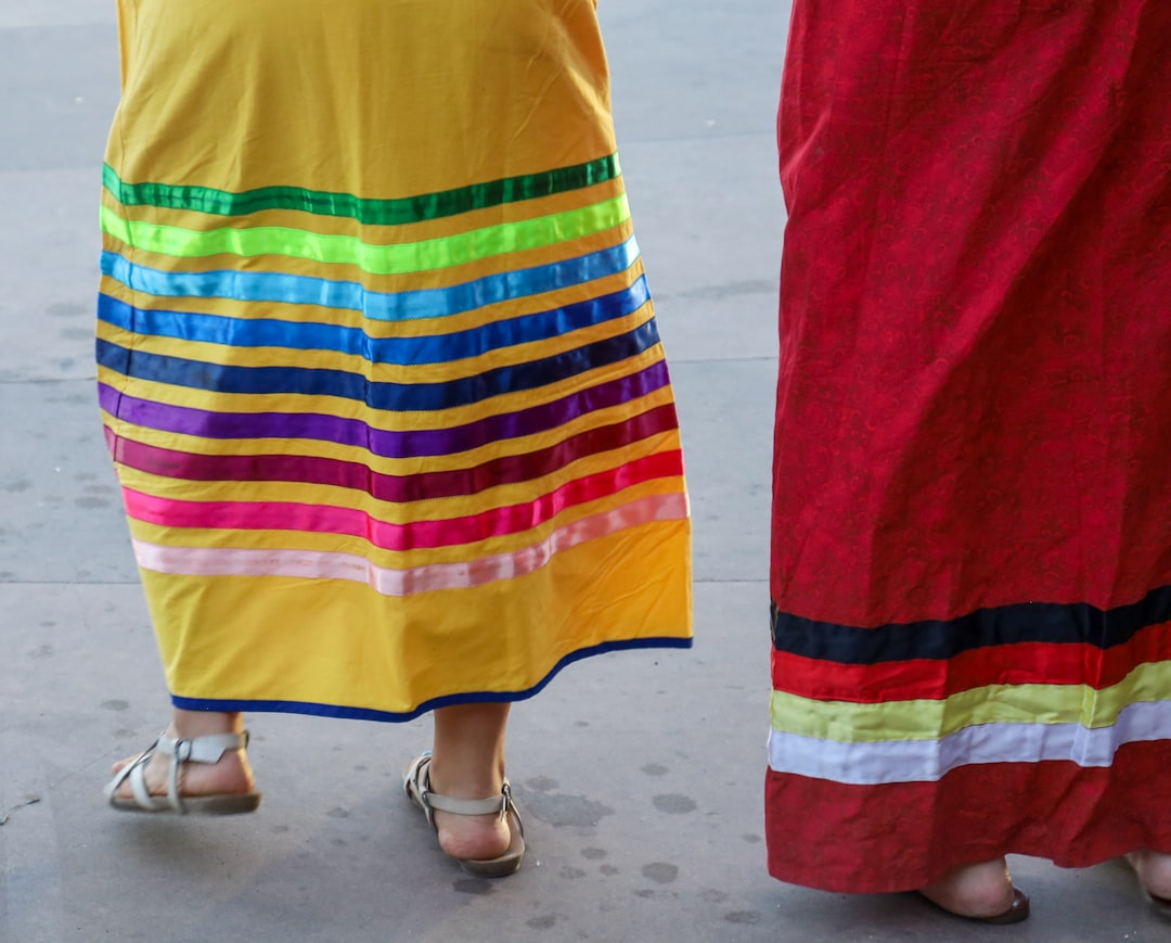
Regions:
<instances>
[{"instance_id":1,"label":"thin dark blue trim along the yellow skirt's bottom hem","mask_svg":"<svg viewBox=\"0 0 1171 943\"><path fill-rule=\"evenodd\" d=\"M545 689L566 665L589 658L594 655L607 655L611 651L632 651L648 648L689 649L691 638L629 638L621 642L603 642L593 648L583 648L570 652L557 662L537 684L525 691L474 691L466 695L447 695L426 701L412 711L396 713L377 711L369 708L341 708L334 704L314 704L308 701L219 701L198 697L179 697L171 695L171 703L185 711L252 711L267 713L307 713L314 717L337 717L349 720L378 720L389 724L400 724L430 713L437 708L451 708L456 704L505 704L515 701L527 701Z\"/></svg>"}]
</instances>

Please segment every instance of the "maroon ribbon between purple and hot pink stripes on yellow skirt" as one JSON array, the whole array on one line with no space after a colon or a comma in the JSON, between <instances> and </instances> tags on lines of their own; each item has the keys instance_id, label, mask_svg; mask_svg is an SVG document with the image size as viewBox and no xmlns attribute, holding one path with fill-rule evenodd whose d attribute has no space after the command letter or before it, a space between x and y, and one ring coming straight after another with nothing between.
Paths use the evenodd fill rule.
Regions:
<instances>
[{"instance_id":1,"label":"maroon ribbon between purple and hot pink stripes on yellow skirt","mask_svg":"<svg viewBox=\"0 0 1171 943\"><path fill-rule=\"evenodd\" d=\"M121 438L107 426L105 440L115 462L164 478L190 481L297 481L364 491L381 501L405 504L427 498L477 494L497 485L527 481L571 462L611 451L677 428L669 404L611 425L590 429L556 445L485 462L471 469L379 474L359 462L309 456L208 456L145 445ZM425 462L426 459L420 459Z\"/></svg>"}]
</instances>

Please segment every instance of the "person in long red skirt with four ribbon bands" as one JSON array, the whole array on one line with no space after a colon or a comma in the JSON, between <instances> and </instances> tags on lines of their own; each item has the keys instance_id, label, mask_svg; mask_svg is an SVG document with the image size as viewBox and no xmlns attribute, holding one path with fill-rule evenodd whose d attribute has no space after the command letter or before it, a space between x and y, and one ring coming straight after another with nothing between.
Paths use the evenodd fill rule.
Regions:
<instances>
[{"instance_id":1,"label":"person in long red skirt with four ribbon bands","mask_svg":"<svg viewBox=\"0 0 1171 943\"><path fill-rule=\"evenodd\" d=\"M795 0L771 873L1171 915L1171 4Z\"/></svg>"}]
</instances>

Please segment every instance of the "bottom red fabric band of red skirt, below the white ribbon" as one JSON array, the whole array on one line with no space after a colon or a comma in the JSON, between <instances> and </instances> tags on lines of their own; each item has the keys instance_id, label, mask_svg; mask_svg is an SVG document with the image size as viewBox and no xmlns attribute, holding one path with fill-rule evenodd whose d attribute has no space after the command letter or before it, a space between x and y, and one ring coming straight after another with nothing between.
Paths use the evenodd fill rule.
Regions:
<instances>
[{"instance_id":1,"label":"bottom red fabric band of red skirt, below the white ribbon","mask_svg":"<svg viewBox=\"0 0 1171 943\"><path fill-rule=\"evenodd\" d=\"M768 771L769 873L855 894L913 890L1004 854L1081 868L1171 850L1171 740L1125 744L1109 768L961 766L939 783L848 786Z\"/></svg>"}]
</instances>

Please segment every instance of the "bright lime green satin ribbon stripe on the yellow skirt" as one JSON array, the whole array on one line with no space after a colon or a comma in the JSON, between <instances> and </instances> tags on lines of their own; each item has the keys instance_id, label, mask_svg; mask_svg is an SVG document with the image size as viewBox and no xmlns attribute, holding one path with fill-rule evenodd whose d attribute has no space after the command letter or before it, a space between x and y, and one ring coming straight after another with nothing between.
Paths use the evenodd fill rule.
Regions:
<instances>
[{"instance_id":1,"label":"bright lime green satin ribbon stripe on the yellow skirt","mask_svg":"<svg viewBox=\"0 0 1171 943\"><path fill-rule=\"evenodd\" d=\"M321 235L285 226L197 231L123 219L102 207L102 231L128 246L173 258L287 255L316 262L356 265L374 275L403 275L448 268L493 255L540 248L612 228L630 218L625 194L580 210L502 223L482 230L397 245L371 245L355 235Z\"/></svg>"}]
</instances>

